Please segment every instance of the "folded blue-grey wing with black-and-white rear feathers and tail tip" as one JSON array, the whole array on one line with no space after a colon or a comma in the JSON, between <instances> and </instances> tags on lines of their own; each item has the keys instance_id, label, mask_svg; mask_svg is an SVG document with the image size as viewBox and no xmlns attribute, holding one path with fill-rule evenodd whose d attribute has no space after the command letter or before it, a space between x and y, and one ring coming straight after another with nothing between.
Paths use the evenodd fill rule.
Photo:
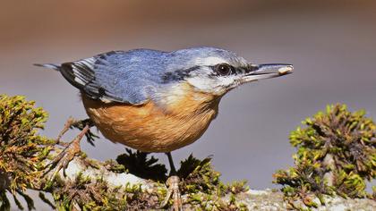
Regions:
<instances>
[{"instance_id":1,"label":"folded blue-grey wing with black-and-white rear feathers and tail tip","mask_svg":"<svg viewBox=\"0 0 376 211\"><path fill-rule=\"evenodd\" d=\"M155 86L153 72L142 70L150 69L150 66L140 63L141 56L113 51L60 66L42 66L60 71L66 80L90 98L140 105L148 100L148 90Z\"/></svg>"}]
</instances>

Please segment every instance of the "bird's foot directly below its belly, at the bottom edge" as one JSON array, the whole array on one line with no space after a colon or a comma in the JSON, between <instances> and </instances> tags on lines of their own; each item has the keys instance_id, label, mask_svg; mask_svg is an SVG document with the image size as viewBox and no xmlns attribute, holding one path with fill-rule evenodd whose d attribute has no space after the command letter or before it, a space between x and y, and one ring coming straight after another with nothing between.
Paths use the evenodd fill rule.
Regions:
<instances>
[{"instance_id":1,"label":"bird's foot directly below its belly, at the bottom edge","mask_svg":"<svg viewBox=\"0 0 376 211\"><path fill-rule=\"evenodd\" d=\"M173 210L174 211L181 211L183 210L183 202L182 202L182 196L180 194L179 190L179 182L180 178L176 175L168 177L166 183L167 183L167 195L166 198L162 201L162 204L160 207L165 207L168 203L168 200L172 197L174 200L173 204Z\"/></svg>"}]
</instances>

